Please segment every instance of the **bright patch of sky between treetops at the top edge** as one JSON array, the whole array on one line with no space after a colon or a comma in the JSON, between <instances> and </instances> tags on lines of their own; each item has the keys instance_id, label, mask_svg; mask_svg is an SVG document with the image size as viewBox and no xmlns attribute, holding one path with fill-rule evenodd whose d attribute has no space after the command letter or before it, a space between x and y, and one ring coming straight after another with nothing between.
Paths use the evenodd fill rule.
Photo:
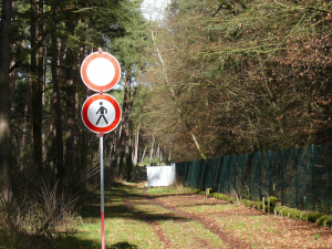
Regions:
<instances>
[{"instance_id":1,"label":"bright patch of sky between treetops at the top edge","mask_svg":"<svg viewBox=\"0 0 332 249\"><path fill-rule=\"evenodd\" d=\"M144 0L142 3L142 12L146 19L163 19L163 10L170 0Z\"/></svg>"}]
</instances>

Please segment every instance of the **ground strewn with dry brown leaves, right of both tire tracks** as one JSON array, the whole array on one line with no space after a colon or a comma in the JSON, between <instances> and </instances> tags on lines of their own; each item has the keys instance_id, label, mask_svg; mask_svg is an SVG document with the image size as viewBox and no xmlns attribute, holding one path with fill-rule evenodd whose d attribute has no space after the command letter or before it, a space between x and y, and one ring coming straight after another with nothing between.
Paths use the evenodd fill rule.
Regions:
<instances>
[{"instance_id":1,"label":"ground strewn with dry brown leaves, right of both tire tracks","mask_svg":"<svg viewBox=\"0 0 332 249\"><path fill-rule=\"evenodd\" d=\"M198 195L168 195L156 198L160 205L186 214L187 218L214 225L225 234L253 248L332 248L331 228L261 210L235 206ZM231 247L231 245L228 245Z\"/></svg>"}]
</instances>

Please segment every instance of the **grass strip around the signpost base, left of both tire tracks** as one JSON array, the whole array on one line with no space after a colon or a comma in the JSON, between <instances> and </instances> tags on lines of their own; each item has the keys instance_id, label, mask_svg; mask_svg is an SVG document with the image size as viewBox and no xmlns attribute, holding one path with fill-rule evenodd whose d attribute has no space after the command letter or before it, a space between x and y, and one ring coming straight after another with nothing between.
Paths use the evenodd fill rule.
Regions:
<instances>
[{"instance_id":1,"label":"grass strip around the signpost base, left of both tire tracks","mask_svg":"<svg viewBox=\"0 0 332 249\"><path fill-rule=\"evenodd\" d=\"M115 185L105 191L105 246L108 248L160 248L153 228L142 222L125 206L122 194L132 186ZM100 196L81 211L83 225L77 232L56 239L55 248L101 248Z\"/></svg>"}]
</instances>

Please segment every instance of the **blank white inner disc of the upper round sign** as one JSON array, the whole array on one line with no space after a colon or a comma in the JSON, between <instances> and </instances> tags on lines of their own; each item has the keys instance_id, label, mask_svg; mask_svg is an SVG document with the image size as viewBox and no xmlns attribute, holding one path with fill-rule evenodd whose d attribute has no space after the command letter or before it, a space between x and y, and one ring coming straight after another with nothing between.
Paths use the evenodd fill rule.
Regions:
<instances>
[{"instance_id":1,"label":"blank white inner disc of the upper round sign","mask_svg":"<svg viewBox=\"0 0 332 249\"><path fill-rule=\"evenodd\" d=\"M97 86L107 85L115 76L112 62L105 58L96 58L86 68L87 79Z\"/></svg>"}]
</instances>

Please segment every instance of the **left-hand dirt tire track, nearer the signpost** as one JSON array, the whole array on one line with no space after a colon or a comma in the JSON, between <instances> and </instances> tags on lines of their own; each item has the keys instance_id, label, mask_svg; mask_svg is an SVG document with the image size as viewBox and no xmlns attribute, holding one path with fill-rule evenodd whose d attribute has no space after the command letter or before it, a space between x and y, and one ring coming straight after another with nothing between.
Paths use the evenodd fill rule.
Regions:
<instances>
[{"instance_id":1,"label":"left-hand dirt tire track, nearer the signpost","mask_svg":"<svg viewBox=\"0 0 332 249\"><path fill-rule=\"evenodd\" d=\"M173 245L172 240L169 240L165 236L165 234L164 234L164 231L160 228L160 225L158 222L154 221L148 216L136 211L133 204L132 204L132 201L131 201L131 197L128 195L124 195L123 200L124 200L124 204L126 205L126 207L131 210L131 212L133 212L139 220L148 222L152 226L153 230L155 231L155 234L158 236L159 240L162 241L163 248L165 248L165 249L173 249L174 248L174 245Z\"/></svg>"}]
</instances>

